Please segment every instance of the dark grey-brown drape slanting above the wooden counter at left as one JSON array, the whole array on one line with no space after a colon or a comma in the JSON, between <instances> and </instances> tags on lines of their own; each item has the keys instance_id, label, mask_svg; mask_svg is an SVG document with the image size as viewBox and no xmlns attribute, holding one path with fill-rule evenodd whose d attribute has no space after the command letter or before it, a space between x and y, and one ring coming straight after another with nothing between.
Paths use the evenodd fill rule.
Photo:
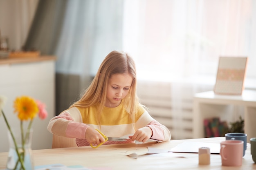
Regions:
<instances>
[{"instance_id":1,"label":"dark grey-brown drape slanting above the wooden counter at left","mask_svg":"<svg viewBox=\"0 0 256 170\"><path fill-rule=\"evenodd\" d=\"M24 48L53 55L63 26L67 0L39 0Z\"/></svg>"}]
</instances>

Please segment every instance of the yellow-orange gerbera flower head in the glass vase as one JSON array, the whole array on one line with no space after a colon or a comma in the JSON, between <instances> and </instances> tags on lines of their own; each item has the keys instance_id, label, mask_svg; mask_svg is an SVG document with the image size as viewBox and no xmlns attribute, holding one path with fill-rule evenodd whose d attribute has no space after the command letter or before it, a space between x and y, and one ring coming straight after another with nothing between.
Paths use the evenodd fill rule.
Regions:
<instances>
[{"instance_id":1,"label":"yellow-orange gerbera flower head in the glass vase","mask_svg":"<svg viewBox=\"0 0 256 170\"><path fill-rule=\"evenodd\" d=\"M14 113L18 113L18 118L22 121L33 119L39 111L34 99L27 96L17 97L13 107Z\"/></svg>"}]
</instances>

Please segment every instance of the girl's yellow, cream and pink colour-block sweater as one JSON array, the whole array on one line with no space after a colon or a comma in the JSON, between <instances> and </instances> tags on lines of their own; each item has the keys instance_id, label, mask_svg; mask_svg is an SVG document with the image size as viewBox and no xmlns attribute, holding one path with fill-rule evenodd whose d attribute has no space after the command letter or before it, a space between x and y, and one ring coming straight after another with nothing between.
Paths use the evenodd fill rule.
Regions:
<instances>
[{"instance_id":1,"label":"girl's yellow, cream and pink colour-block sweater","mask_svg":"<svg viewBox=\"0 0 256 170\"><path fill-rule=\"evenodd\" d=\"M53 117L47 129L54 135L76 138L77 146L90 146L85 139L86 129L90 126L100 129L108 137L122 137L135 133L135 128L139 129L148 126L152 129L151 139L159 141L169 141L170 131L158 121L153 119L141 106L135 114L135 128L129 113L126 112L123 102L115 108L104 107L101 113L101 127L97 123L97 105L89 108L72 107L69 110ZM107 141L104 144L132 143L134 141Z\"/></svg>"}]
</instances>

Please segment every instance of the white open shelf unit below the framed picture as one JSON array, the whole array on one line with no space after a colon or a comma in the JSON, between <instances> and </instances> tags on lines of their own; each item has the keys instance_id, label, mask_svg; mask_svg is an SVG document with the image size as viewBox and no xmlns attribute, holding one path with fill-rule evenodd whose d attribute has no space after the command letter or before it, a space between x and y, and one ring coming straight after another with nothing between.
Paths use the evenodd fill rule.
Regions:
<instances>
[{"instance_id":1,"label":"white open shelf unit below the framed picture","mask_svg":"<svg viewBox=\"0 0 256 170\"><path fill-rule=\"evenodd\" d=\"M247 141L256 137L256 91L244 90L242 95L216 95L207 91L196 93L193 102L193 138L204 137L203 120L206 118L220 117L229 123L234 106L244 108Z\"/></svg>"}]
</instances>

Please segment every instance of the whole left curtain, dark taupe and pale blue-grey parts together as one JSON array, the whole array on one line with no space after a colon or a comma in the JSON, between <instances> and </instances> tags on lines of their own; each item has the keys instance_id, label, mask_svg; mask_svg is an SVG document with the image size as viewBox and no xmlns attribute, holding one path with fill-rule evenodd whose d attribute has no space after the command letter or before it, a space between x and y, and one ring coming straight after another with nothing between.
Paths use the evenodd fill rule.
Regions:
<instances>
[{"instance_id":1,"label":"whole left curtain, dark taupe and pale blue-grey parts together","mask_svg":"<svg viewBox=\"0 0 256 170\"><path fill-rule=\"evenodd\" d=\"M56 115L80 97L103 58L122 49L122 10L123 0L39 1L24 48L57 57Z\"/></svg>"}]
</instances>

